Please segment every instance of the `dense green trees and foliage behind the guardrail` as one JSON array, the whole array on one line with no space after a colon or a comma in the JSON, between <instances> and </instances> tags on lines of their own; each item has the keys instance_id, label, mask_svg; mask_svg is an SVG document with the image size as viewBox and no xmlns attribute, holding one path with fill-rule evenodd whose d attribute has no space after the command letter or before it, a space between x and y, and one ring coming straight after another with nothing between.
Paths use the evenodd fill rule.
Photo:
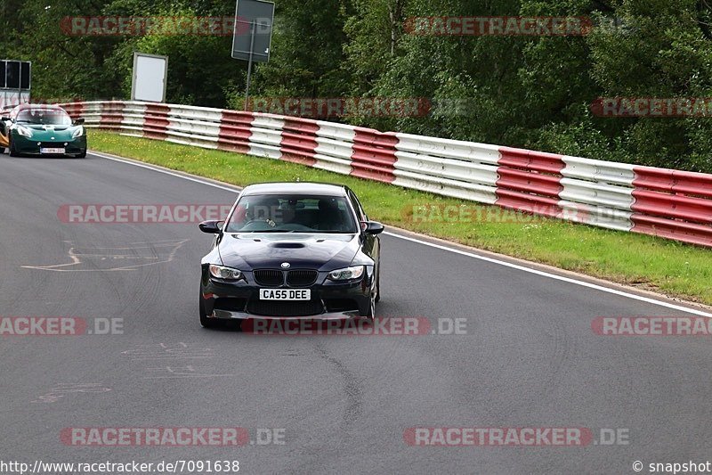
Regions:
<instances>
[{"instance_id":1,"label":"dense green trees and foliage behind the guardrail","mask_svg":"<svg viewBox=\"0 0 712 475\"><path fill-rule=\"evenodd\" d=\"M126 98L134 51L169 56L168 102L241 107L231 37L72 37L71 15L231 16L234 0L3 0L0 56L33 61L36 98ZM598 97L712 97L707 0L277 0L267 97L425 97L424 117L348 117L380 129L712 172L712 117L603 118ZM567 37L421 36L411 17L585 16ZM456 110L457 109L457 110Z\"/></svg>"}]
</instances>

